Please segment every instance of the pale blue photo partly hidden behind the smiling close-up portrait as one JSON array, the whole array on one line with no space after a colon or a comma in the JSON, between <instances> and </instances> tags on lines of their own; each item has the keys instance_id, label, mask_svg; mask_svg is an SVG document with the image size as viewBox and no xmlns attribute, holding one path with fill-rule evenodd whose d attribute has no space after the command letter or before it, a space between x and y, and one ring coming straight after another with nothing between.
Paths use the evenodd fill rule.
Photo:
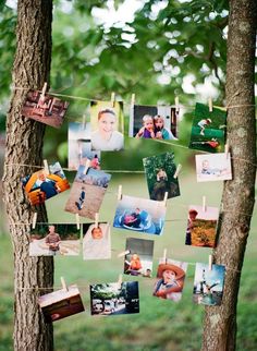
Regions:
<instances>
[{"instance_id":1,"label":"pale blue photo partly hidden behind the smiling close-up portrait","mask_svg":"<svg viewBox=\"0 0 257 351\"><path fill-rule=\"evenodd\" d=\"M100 152L91 150L90 123L69 123L68 136L68 167L77 170L89 160L91 168L100 170Z\"/></svg>"}]
</instances>

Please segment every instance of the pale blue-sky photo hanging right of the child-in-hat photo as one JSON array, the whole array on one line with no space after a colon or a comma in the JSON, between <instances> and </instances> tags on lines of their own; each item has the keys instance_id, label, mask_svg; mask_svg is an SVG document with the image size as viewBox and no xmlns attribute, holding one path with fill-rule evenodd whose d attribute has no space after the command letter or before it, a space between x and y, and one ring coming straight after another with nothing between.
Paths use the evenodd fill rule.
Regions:
<instances>
[{"instance_id":1,"label":"pale blue-sky photo hanging right of the child-in-hat photo","mask_svg":"<svg viewBox=\"0 0 257 351\"><path fill-rule=\"evenodd\" d=\"M223 295L225 267L221 265L209 266L197 263L195 267L195 279L193 301L204 305L220 305Z\"/></svg>"}]
</instances>

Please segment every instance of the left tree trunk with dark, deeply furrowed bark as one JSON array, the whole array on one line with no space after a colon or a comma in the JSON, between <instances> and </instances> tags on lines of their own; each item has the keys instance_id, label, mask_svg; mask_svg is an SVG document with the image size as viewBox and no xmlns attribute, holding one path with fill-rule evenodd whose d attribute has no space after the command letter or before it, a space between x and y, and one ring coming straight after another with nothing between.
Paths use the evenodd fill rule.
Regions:
<instances>
[{"instance_id":1,"label":"left tree trunk with dark, deeply furrowed bark","mask_svg":"<svg viewBox=\"0 0 257 351\"><path fill-rule=\"evenodd\" d=\"M45 324L37 303L37 288L53 285L53 261L28 256L33 211L37 210L39 220L46 220L46 210L44 206L32 208L21 185L21 177L38 170L23 165L41 165L45 125L21 116L27 90L15 89L41 89L44 82L49 82L51 22L52 0L19 1L14 92L7 118L3 175L14 250L14 349L19 351L53 350L52 325Z\"/></svg>"}]
</instances>

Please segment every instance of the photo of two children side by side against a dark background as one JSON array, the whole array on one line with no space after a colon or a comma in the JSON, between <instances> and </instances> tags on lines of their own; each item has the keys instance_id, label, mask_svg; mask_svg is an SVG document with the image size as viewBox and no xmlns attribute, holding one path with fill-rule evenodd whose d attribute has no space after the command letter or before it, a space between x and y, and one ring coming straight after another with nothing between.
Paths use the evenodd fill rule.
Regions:
<instances>
[{"instance_id":1,"label":"photo of two children side by side against a dark background","mask_svg":"<svg viewBox=\"0 0 257 351\"><path fill-rule=\"evenodd\" d=\"M130 117L130 136L178 140L179 112L171 106L134 105Z\"/></svg>"}]
</instances>

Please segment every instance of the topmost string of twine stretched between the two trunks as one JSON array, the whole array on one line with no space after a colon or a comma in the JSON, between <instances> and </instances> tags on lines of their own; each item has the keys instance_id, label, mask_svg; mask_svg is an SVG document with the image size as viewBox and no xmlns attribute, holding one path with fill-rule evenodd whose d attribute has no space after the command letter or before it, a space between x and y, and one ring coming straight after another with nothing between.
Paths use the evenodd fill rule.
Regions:
<instances>
[{"instance_id":1,"label":"topmost string of twine stretched between the two trunks","mask_svg":"<svg viewBox=\"0 0 257 351\"><path fill-rule=\"evenodd\" d=\"M66 87L70 88L70 87ZM64 88L64 89L66 89ZM14 86L13 90L30 90L30 88L28 87L20 87L20 86ZM60 90L60 89L59 89ZM42 90L35 90L38 93L41 93ZM74 100L82 100L82 101L100 101L99 99L93 99L93 98L87 98L87 97L82 97L82 96L74 96L74 95L65 95L65 94L60 94L60 93L54 93L54 92L48 92L47 94L52 95L52 96L59 96L59 97L64 97L64 98L70 98L70 99L74 99ZM238 92L236 92L232 98L230 99L230 101L234 98L234 96L238 95ZM240 108L240 107L256 107L257 105L255 104L243 104L243 105L230 105L230 101L228 102L227 106L221 107L224 108L225 110L228 109L233 109L233 108ZM131 106L132 104L127 104L125 101L123 101L124 105L126 106ZM133 104L134 105L134 104ZM144 105L144 106L149 106L149 107L155 107L156 105ZM192 109L194 110L195 107L194 106L188 106L188 105L178 105L179 108L187 108L187 109Z\"/></svg>"}]
</instances>

